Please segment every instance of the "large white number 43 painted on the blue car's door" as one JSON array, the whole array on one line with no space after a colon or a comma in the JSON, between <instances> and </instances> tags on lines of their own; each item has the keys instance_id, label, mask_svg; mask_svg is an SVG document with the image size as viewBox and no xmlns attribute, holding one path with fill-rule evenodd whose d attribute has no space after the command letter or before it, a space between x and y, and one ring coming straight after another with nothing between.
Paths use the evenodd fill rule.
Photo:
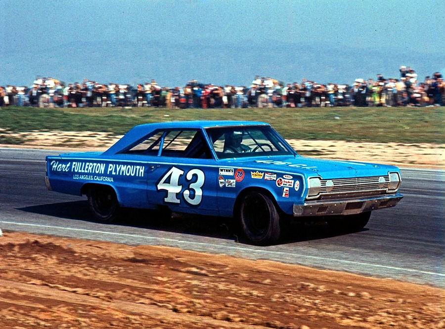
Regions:
<instances>
[{"instance_id":1,"label":"large white number 43 painted on the blue car's door","mask_svg":"<svg viewBox=\"0 0 445 329\"><path fill-rule=\"evenodd\" d=\"M159 190L167 191L167 196L164 198L164 202L180 204L178 199L178 193L182 192L184 201L191 206L198 206L202 200L202 186L204 185L204 172L200 169L190 169L185 175L185 179L188 184L188 188L182 191L182 185L179 184L179 178L184 174L184 170L177 167L171 167L164 176L161 178L156 188ZM196 181L192 182L193 176L196 176ZM193 192L193 193L191 193Z\"/></svg>"}]
</instances>

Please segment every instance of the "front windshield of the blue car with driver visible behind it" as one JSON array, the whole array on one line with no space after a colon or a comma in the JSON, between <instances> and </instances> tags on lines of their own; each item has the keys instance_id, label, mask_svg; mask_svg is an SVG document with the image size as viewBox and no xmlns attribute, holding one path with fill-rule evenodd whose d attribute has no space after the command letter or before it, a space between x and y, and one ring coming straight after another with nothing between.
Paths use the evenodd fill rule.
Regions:
<instances>
[{"instance_id":1,"label":"front windshield of the blue car with driver visible behind it","mask_svg":"<svg viewBox=\"0 0 445 329\"><path fill-rule=\"evenodd\" d=\"M206 132L218 159L295 154L269 126L207 128Z\"/></svg>"}]
</instances>

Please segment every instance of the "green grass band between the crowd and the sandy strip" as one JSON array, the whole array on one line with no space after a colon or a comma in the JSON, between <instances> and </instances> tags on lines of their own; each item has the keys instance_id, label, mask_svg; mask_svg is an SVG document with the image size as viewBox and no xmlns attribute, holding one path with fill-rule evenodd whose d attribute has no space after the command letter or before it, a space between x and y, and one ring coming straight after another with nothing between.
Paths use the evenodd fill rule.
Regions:
<instances>
[{"instance_id":1,"label":"green grass band between the crowd and the sandy strip","mask_svg":"<svg viewBox=\"0 0 445 329\"><path fill-rule=\"evenodd\" d=\"M184 120L271 123L285 138L366 142L445 142L445 107L398 108L0 108L0 143L19 143L8 132L102 131L124 134L136 124Z\"/></svg>"}]
</instances>

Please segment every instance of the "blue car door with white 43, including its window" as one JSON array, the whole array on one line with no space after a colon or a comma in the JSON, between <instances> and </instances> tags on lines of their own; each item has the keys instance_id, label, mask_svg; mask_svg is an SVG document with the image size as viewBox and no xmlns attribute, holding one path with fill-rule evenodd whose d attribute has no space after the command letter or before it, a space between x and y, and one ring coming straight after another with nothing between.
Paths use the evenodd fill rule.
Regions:
<instances>
[{"instance_id":1,"label":"blue car door with white 43, including its window","mask_svg":"<svg viewBox=\"0 0 445 329\"><path fill-rule=\"evenodd\" d=\"M149 202L173 211L217 214L216 164L201 131L165 130L158 150L157 161L148 166Z\"/></svg>"}]
</instances>

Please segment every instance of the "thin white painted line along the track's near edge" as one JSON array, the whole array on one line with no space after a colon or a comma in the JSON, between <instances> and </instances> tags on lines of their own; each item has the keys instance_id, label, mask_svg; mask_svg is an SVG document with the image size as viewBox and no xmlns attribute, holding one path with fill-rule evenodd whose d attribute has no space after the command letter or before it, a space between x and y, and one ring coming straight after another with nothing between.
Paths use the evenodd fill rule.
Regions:
<instances>
[{"instance_id":1,"label":"thin white painted line along the track's near edge","mask_svg":"<svg viewBox=\"0 0 445 329\"><path fill-rule=\"evenodd\" d=\"M221 246L214 245L214 244L209 244L209 243L193 242L193 241L182 241L182 240L170 239L170 238L147 237L147 236L137 235L137 234L96 231L96 230L87 230L87 229L78 229L78 228L60 227L60 226L51 226L51 225L41 225L41 224L17 223L17 222L10 222L10 221L0 221L0 223L21 225L21 226L45 227L45 228L51 227L51 228L54 228L54 229L67 230L67 231L100 233L100 234L108 234L108 235L114 235L114 236L126 236L126 237L143 238L143 239L158 240L158 241L165 241L165 242L186 243L186 244L189 244L189 245L196 245L196 246L221 247ZM233 249L233 250L241 250L241 251L246 251L247 250L247 248L241 248L241 247L233 247L233 246L224 246L224 247L227 247L227 248ZM263 250L263 249L252 249L252 248L249 248L249 249L252 250L252 251L261 252L263 254L285 255L287 257L289 256L289 253L282 252L282 251L271 251L271 250ZM370 266L370 267L376 267L376 268L385 268L385 269L389 269L389 270L397 270L397 271L402 271L402 272L419 273L419 274L427 274L427 275L435 275L435 276L439 276L439 277L445 277L444 273L420 271L420 270L409 269L409 268L401 268L401 267L396 267L396 266L371 264L371 263L357 262L357 261L351 261L351 260L334 259L334 258L311 256L311 255L296 254L296 253L293 253L292 255L293 256L299 256L299 257L307 257L307 258L312 258L312 259L317 259L317 260L325 260L325 261L332 261L332 262L345 263L345 264L363 265L363 266Z\"/></svg>"}]
</instances>

